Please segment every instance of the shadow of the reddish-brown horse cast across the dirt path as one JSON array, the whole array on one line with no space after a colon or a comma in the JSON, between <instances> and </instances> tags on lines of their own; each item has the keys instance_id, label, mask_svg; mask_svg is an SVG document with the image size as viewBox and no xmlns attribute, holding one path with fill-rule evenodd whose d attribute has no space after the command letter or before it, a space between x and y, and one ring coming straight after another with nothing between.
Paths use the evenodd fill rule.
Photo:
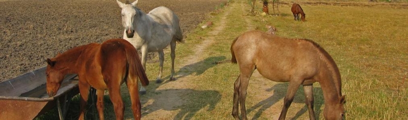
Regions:
<instances>
[{"instance_id":1,"label":"shadow of the reddish-brown horse cast across the dirt path","mask_svg":"<svg viewBox=\"0 0 408 120\"><path fill-rule=\"evenodd\" d=\"M155 91L155 93L160 94L142 96L140 102L142 105L146 105L142 106L142 116L148 114L156 115L157 112L154 112L161 109L166 111L180 109L172 119L192 119L197 111L203 108L207 108L207 111L214 110L217 103L221 100L221 94L214 90L163 89ZM202 98L202 96L210 97ZM129 112L125 114L125 118L133 118L133 114Z\"/></svg>"}]
</instances>

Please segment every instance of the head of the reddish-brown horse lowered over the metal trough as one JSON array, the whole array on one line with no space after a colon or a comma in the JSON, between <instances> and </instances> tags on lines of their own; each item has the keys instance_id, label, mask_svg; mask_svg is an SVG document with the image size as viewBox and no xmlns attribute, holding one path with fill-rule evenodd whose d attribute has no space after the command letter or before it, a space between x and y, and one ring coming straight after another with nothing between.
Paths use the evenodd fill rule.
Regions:
<instances>
[{"instance_id":1,"label":"head of the reddish-brown horse lowered over the metal trough","mask_svg":"<svg viewBox=\"0 0 408 120\"><path fill-rule=\"evenodd\" d=\"M56 66L56 61L47 58L47 64L47 70L45 71L47 76L47 93L49 97L53 97L57 94L64 75L61 73L60 68Z\"/></svg>"}]
</instances>

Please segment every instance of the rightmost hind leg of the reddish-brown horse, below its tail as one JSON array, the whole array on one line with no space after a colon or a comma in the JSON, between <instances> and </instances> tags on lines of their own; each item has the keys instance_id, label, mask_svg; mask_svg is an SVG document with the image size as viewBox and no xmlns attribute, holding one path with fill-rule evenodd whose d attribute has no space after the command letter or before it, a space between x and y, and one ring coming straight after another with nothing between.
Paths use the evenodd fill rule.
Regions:
<instances>
[{"instance_id":1,"label":"rightmost hind leg of the reddish-brown horse, below its tail","mask_svg":"<svg viewBox=\"0 0 408 120\"><path fill-rule=\"evenodd\" d=\"M135 119L140 119L141 117L141 112L140 112L140 99L139 99L139 93L137 92L137 76L132 76L130 75L127 77L126 80L126 85L127 89L129 89L129 94L131 96L131 101L132 101L132 111Z\"/></svg>"}]
</instances>

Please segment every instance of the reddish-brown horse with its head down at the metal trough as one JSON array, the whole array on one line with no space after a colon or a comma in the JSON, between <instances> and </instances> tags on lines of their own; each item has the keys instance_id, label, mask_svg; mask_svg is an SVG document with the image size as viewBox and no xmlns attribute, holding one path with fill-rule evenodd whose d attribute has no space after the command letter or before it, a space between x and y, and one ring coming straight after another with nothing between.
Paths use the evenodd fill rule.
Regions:
<instances>
[{"instance_id":1,"label":"reddish-brown horse with its head down at the metal trough","mask_svg":"<svg viewBox=\"0 0 408 120\"><path fill-rule=\"evenodd\" d=\"M102 44L91 43L72 48L54 58L47 59L47 93L57 94L64 75L78 74L81 93L79 119L84 119L89 88L96 89L99 119L104 119L104 93L108 89L116 119L123 119L124 106L120 85L126 82L132 100L135 119L140 119L140 100L137 77L143 86L149 84L136 48L126 40L111 39Z\"/></svg>"}]
</instances>

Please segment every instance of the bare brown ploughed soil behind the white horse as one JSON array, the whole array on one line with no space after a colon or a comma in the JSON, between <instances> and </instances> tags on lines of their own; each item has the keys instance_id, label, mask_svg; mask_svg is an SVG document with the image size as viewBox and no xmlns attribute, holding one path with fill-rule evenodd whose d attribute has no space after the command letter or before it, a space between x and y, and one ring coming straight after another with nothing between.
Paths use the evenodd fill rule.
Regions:
<instances>
[{"instance_id":1,"label":"bare brown ploughed soil behind the white horse","mask_svg":"<svg viewBox=\"0 0 408 120\"><path fill-rule=\"evenodd\" d=\"M159 6L173 10L190 32L224 0L144 0L147 13ZM122 38L115 1L1 1L0 81L46 66L45 59L75 46ZM150 57L152 55L150 54Z\"/></svg>"}]
</instances>

